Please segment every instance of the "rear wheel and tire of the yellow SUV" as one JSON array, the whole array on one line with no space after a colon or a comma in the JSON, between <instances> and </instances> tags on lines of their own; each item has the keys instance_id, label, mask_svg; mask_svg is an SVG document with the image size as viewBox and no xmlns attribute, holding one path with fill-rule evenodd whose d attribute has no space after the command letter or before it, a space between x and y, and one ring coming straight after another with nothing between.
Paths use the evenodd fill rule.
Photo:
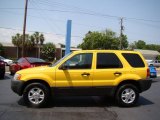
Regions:
<instances>
[{"instance_id":1,"label":"rear wheel and tire of the yellow SUV","mask_svg":"<svg viewBox=\"0 0 160 120\"><path fill-rule=\"evenodd\" d=\"M124 84L116 92L118 105L122 107L135 106L139 98L139 91L135 85Z\"/></svg>"}]
</instances>

